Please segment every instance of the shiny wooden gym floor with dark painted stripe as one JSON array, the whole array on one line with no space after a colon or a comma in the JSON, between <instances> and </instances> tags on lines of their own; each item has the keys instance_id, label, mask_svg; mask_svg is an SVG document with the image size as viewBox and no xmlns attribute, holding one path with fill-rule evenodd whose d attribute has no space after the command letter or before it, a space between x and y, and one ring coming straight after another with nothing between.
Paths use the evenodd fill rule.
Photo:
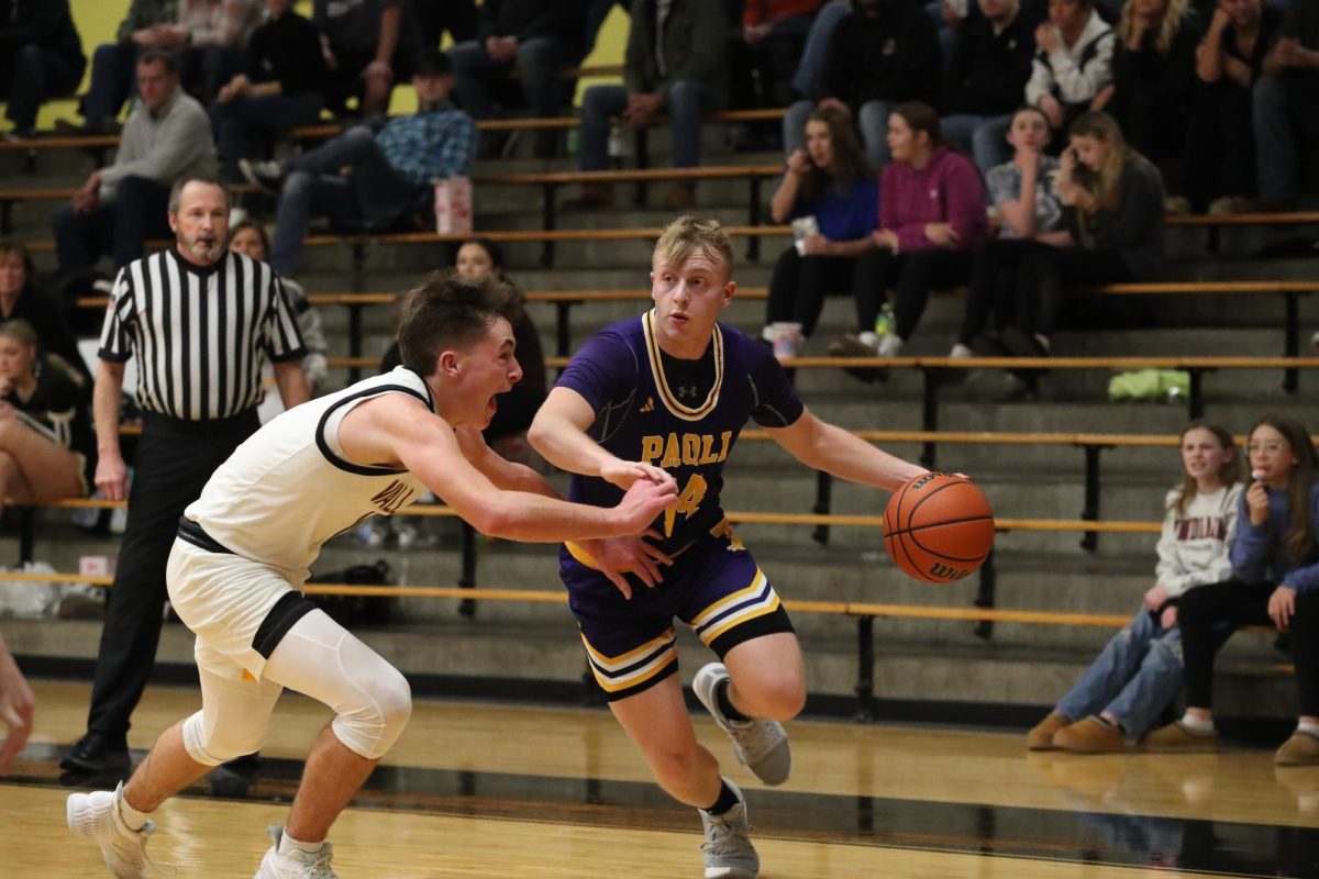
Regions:
<instances>
[{"instance_id":1,"label":"shiny wooden gym floor with dark painted stripe","mask_svg":"<svg viewBox=\"0 0 1319 879\"><path fill-rule=\"evenodd\" d=\"M88 688L36 689L36 734L0 784L0 875L108 875L65 829L63 799L115 779L55 766ZM197 698L148 689L135 756ZM285 696L260 770L212 774L166 804L149 849L161 875L251 876L327 718ZM748 793L764 879L1319 876L1319 767L1275 768L1270 751L1083 758L1028 754L1020 734L799 721L793 779L766 789L696 723ZM696 814L650 783L603 709L419 701L331 839L343 879L702 875Z\"/></svg>"}]
</instances>

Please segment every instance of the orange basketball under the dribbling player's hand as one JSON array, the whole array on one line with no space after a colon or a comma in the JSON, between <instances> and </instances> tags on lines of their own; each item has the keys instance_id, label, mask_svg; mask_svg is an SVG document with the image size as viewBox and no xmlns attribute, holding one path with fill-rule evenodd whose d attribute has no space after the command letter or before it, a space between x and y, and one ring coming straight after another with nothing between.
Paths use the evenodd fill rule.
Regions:
<instances>
[{"instance_id":1,"label":"orange basketball under the dribbling player's hand","mask_svg":"<svg viewBox=\"0 0 1319 879\"><path fill-rule=\"evenodd\" d=\"M922 473L884 507L884 544L917 580L955 582L971 576L993 548L993 510L967 477Z\"/></svg>"}]
</instances>

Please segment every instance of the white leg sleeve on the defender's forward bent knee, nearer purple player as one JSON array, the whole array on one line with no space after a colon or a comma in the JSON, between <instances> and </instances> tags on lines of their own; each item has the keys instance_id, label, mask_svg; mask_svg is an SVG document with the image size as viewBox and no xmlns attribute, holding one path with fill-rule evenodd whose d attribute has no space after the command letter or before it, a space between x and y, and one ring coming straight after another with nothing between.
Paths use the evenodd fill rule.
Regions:
<instances>
[{"instance_id":1,"label":"white leg sleeve on the defender's forward bent knee, nearer purple player","mask_svg":"<svg viewBox=\"0 0 1319 879\"><path fill-rule=\"evenodd\" d=\"M368 760L384 756L412 716L402 673L321 610L294 623L270 654L265 677L332 708L335 737Z\"/></svg>"}]
</instances>

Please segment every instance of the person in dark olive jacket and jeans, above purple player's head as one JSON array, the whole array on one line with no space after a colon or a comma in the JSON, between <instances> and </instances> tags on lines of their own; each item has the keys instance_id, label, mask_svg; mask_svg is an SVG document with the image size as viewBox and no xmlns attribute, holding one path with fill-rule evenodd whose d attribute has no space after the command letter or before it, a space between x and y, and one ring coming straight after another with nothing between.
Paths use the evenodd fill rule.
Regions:
<instances>
[{"instance_id":1,"label":"person in dark olive jacket and jeans, above purple player's head","mask_svg":"<svg viewBox=\"0 0 1319 879\"><path fill-rule=\"evenodd\" d=\"M675 167L700 165L700 117L728 96L724 63L724 9L714 0L633 0L632 28L621 86L592 86L582 99L582 170L609 167L609 120L634 129L669 116ZM682 211L695 204L692 186L675 184L663 206ZM582 187L574 207L613 206L613 187Z\"/></svg>"}]
</instances>

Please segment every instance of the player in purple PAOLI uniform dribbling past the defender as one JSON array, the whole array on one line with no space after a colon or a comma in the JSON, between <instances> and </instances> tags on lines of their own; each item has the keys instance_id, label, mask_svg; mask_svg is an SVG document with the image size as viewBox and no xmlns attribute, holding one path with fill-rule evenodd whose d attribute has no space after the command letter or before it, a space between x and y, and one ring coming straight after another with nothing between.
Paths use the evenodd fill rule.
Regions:
<instances>
[{"instance_id":1,"label":"player in purple PAOLI uniform dribbling past the defender","mask_svg":"<svg viewBox=\"0 0 1319 879\"><path fill-rule=\"evenodd\" d=\"M719 655L692 688L761 781L787 779L781 721L806 700L787 613L720 509L737 434L753 418L807 467L889 492L926 472L816 419L769 348L718 323L732 271L718 223L675 220L654 249L654 308L591 337L530 430L541 455L575 474L574 501L607 506L636 480L678 481L646 539L566 543L559 573L615 717L661 787L700 810L707 879L753 879L760 858L741 792L696 742L673 618Z\"/></svg>"}]
</instances>

